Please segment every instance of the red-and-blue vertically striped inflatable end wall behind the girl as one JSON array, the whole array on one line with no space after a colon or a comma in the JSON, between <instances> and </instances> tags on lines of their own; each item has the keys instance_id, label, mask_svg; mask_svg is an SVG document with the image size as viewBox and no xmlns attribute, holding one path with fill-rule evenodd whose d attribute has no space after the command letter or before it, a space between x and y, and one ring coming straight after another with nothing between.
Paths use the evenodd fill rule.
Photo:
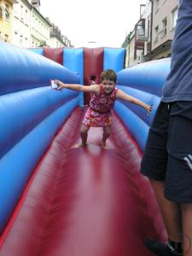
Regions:
<instances>
[{"instance_id":1,"label":"red-and-blue vertically striped inflatable end wall behind the girl","mask_svg":"<svg viewBox=\"0 0 192 256\"><path fill-rule=\"evenodd\" d=\"M80 84L90 85L90 77L100 81L100 73L112 68L119 72L125 67L124 48L31 48L33 52L62 64L74 73L79 74Z\"/></svg>"}]
</instances>

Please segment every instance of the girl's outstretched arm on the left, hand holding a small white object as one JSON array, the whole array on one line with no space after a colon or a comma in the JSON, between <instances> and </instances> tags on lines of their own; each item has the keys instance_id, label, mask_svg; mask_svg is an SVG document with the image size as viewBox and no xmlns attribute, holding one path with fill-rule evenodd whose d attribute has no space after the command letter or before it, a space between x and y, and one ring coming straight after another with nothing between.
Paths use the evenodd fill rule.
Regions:
<instances>
[{"instance_id":1,"label":"girl's outstretched arm on the left, hand holding a small white object","mask_svg":"<svg viewBox=\"0 0 192 256\"><path fill-rule=\"evenodd\" d=\"M78 90L83 92L96 92L98 93L100 90L100 87L98 84L93 84L90 86L84 86L80 84L64 84L60 80L55 79L54 83L58 85L56 90L61 90L64 88L70 89L70 90Z\"/></svg>"}]
</instances>

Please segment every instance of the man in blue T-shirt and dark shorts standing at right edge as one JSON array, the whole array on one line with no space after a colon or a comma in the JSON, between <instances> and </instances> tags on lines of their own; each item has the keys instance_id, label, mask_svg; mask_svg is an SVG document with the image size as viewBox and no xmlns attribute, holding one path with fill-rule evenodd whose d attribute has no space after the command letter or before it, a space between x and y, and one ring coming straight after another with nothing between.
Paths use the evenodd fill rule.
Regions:
<instances>
[{"instance_id":1,"label":"man in blue T-shirt and dark shorts standing at right edge","mask_svg":"<svg viewBox=\"0 0 192 256\"><path fill-rule=\"evenodd\" d=\"M141 172L149 177L168 234L167 245L148 239L148 249L159 256L191 256L192 0L179 1L171 71L148 133Z\"/></svg>"}]
</instances>

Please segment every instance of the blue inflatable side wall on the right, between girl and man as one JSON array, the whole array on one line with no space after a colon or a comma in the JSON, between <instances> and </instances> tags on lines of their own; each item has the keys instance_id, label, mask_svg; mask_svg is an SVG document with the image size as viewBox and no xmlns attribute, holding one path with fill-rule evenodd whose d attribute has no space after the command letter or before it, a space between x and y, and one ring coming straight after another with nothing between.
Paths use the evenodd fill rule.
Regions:
<instances>
[{"instance_id":1,"label":"blue inflatable side wall on the right, between girl and man","mask_svg":"<svg viewBox=\"0 0 192 256\"><path fill-rule=\"evenodd\" d=\"M148 129L160 103L162 86L170 71L170 59L150 61L135 67L125 68L118 73L118 87L131 96L153 105L148 116L143 108L129 102L116 102L115 112L123 121L138 147L143 151L148 137Z\"/></svg>"}]
</instances>

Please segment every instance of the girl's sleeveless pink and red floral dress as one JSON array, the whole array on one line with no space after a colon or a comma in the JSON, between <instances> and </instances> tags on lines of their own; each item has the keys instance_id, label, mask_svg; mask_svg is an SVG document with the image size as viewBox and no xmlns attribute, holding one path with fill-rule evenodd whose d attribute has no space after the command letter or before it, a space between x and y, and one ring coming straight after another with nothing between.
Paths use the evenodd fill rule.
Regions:
<instances>
[{"instance_id":1,"label":"girl's sleeveless pink and red floral dress","mask_svg":"<svg viewBox=\"0 0 192 256\"><path fill-rule=\"evenodd\" d=\"M112 123L112 109L118 88L115 87L108 95L102 89L102 84L99 86L100 94L99 96L95 93L91 95L90 107L83 119L83 124L90 127L103 127Z\"/></svg>"}]
</instances>

